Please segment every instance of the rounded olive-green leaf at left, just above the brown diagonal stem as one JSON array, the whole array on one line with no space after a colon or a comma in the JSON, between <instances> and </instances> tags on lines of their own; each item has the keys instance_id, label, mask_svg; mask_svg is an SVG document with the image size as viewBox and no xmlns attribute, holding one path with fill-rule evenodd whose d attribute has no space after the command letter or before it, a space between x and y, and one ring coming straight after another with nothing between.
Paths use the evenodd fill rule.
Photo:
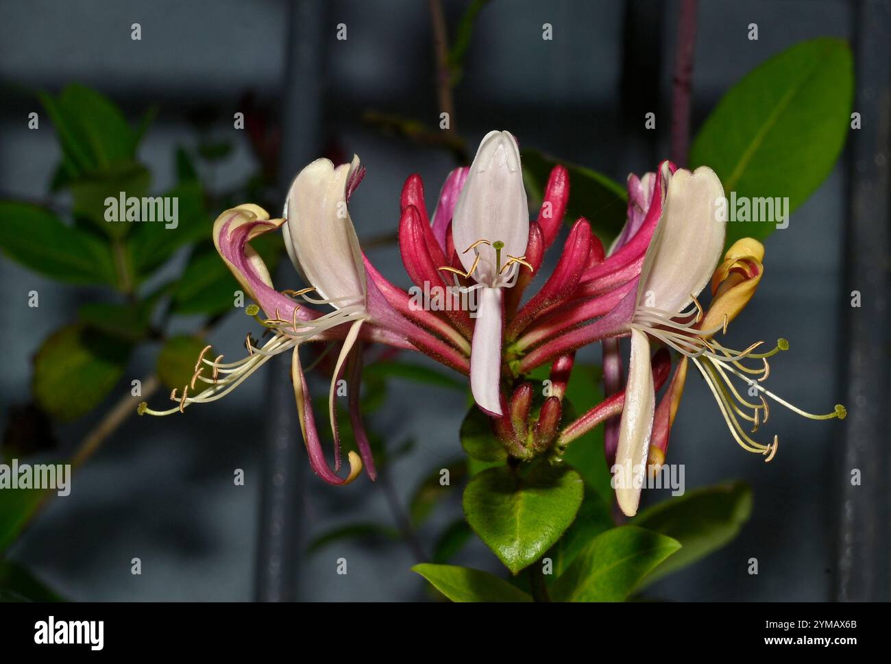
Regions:
<instances>
[{"instance_id":1,"label":"rounded olive-green leaf at left, just above the brown diagonal stem","mask_svg":"<svg viewBox=\"0 0 891 664\"><path fill-rule=\"evenodd\" d=\"M61 327L34 357L31 391L37 404L62 422L89 413L120 380L130 350L127 340L82 324Z\"/></svg>"}]
</instances>

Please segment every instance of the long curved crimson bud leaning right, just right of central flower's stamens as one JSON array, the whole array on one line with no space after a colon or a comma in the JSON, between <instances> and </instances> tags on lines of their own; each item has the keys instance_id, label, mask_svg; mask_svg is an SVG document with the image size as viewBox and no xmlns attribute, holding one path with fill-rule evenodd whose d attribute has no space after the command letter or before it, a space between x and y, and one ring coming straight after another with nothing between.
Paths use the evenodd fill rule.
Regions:
<instances>
[{"instance_id":1,"label":"long curved crimson bud leaning right, just right of central flower's stamens","mask_svg":"<svg viewBox=\"0 0 891 664\"><path fill-rule=\"evenodd\" d=\"M582 218L576 221L576 225L569 232L563 254L554 268L551 277L544 283L542 289L535 293L526 306L519 310L508 326L506 338L514 340L520 332L523 332L532 320L546 307L553 307L568 299L576 290L578 280L588 264L588 254L591 252L591 225Z\"/></svg>"}]
</instances>

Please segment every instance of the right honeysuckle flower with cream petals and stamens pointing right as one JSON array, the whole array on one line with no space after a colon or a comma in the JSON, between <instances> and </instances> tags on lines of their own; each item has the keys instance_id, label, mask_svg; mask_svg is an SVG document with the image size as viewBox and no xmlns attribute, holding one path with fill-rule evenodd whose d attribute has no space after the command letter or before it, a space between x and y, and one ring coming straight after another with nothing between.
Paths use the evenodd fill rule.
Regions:
<instances>
[{"instance_id":1,"label":"right honeysuckle flower with cream petals and stamens pointing right","mask_svg":"<svg viewBox=\"0 0 891 664\"><path fill-rule=\"evenodd\" d=\"M805 413L759 384L770 371L767 357L786 348L783 340L769 352L756 353L754 351L762 342L738 351L713 339L716 332L726 331L732 316L739 313L751 298L763 272L760 264L763 248L751 240L735 244L727 252L723 264L715 270L724 242L724 225L715 218L715 203L723 198L720 181L706 167L693 173L678 169L666 179L665 210L647 250L636 292L630 325L631 357L625 405L613 467L617 503L628 516L637 512L653 431L670 428L686 373L686 365L683 365L676 374L678 383L669 389L663 402L664 410L660 408L658 427L654 427L656 406L650 340L673 348L696 366L714 394L734 439L747 451L764 455L765 461L770 461L776 454L777 437L774 436L770 445L758 443L748 436L737 419L739 415L753 422L753 430L757 430L759 422L766 421L769 414L764 397L812 419L845 416L843 406L836 406L831 414ZM715 315L705 316L704 321L704 312L696 298L709 281L714 284ZM688 309L691 303L694 307ZM707 324L714 325L708 327ZM762 361L763 366L755 369L743 364L744 360L753 359ZM756 390L761 403L754 404L740 397L731 376ZM747 414L743 408L751 409L752 414ZM656 449L664 453L661 441ZM661 463L658 454L655 457L655 461Z\"/></svg>"}]
</instances>

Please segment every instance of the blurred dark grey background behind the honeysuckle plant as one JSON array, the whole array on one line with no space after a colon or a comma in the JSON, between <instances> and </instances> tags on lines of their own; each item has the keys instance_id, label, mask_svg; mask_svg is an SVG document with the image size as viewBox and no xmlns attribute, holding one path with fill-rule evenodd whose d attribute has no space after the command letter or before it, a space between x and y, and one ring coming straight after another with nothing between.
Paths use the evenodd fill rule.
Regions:
<instances>
[{"instance_id":1,"label":"blurred dark grey background behind the honeysuckle plant","mask_svg":"<svg viewBox=\"0 0 891 664\"><path fill-rule=\"evenodd\" d=\"M452 35L469 4L442 4ZM666 158L678 2L492 0L480 6L454 89L453 129L467 145L490 129L508 129L523 147L618 182ZM732 343L743 347L750 340L788 339L790 351L772 365L771 389L805 410L826 412L844 403L851 415L846 422L811 422L774 409L771 431L780 435L780 453L765 465L733 443L702 381L688 381L669 461L685 464L688 490L746 480L753 511L731 544L651 586L647 596L887 600L891 471L881 414L891 406L884 377L888 182L886 161L872 155L887 158L887 61L879 53L887 53L888 37L887 31L870 33L864 20L870 12L887 16L887 4L700 3L694 133L726 89L772 55L813 37L852 43L854 110L876 110L863 120L871 133L852 132L828 179L789 227L765 243L764 280L731 331ZM134 23L141 27L139 40L132 38ZM552 24L552 40L542 38L544 23ZM747 37L750 23L758 25L756 41ZM346 39L337 38L339 24ZM878 40L869 51L878 61L860 56L864 35ZM157 108L138 152L151 169L152 191L166 191L182 178L180 150L194 155L192 168L211 200L222 204L233 192L250 193L250 201L275 215L299 168L317 156L347 160L356 152L368 168L350 201L356 230L365 246L372 243L369 257L381 272L407 287L393 242L402 184L420 172L432 211L460 152L429 139L436 131L425 134L405 120L437 128L433 37L430 5L421 0L3 0L0 198L70 207L68 194L47 198L61 152L35 93L57 94L79 83L110 97L134 125ZM28 127L32 111L40 114L38 130ZM236 112L246 115L244 131L233 128ZM644 129L647 112L656 113L653 130ZM876 125L885 132L878 146ZM863 178L873 183L869 191L857 186ZM222 209L209 209L210 218ZM863 247L878 252L878 261L864 258ZM146 287L176 277L188 260L187 252L176 254ZM276 278L281 288L294 278L285 263ZM78 307L104 296L6 258L0 277L4 444L19 427L29 439L56 446L40 454L70 455L102 414L127 396L130 381L152 373L158 345L138 347L94 412L48 429L25 408L32 359L47 335L77 318ZM859 309L850 306L854 289L862 291ZM29 291L38 291L39 307L26 306ZM170 325L191 332L203 320L186 313ZM249 323L239 312L221 316L208 341L241 357ZM597 361L597 352L586 353ZM363 478L335 489L307 467L288 383L286 369L270 365L225 405L196 406L165 419L127 418L78 469L71 495L46 504L9 557L75 600L429 597L409 571L424 553L416 546L372 532L327 544L317 538L353 524L405 531L406 505L421 480L462 456L457 431L466 395L436 384L388 381L388 397L369 419L388 449L405 447L403 454L375 485ZM316 394L323 394L321 385L315 383ZM163 392L149 401L163 402ZM860 487L851 487L853 468L862 470ZM244 486L233 484L235 469L244 470ZM459 494L417 526L416 540L429 543L460 518ZM652 491L645 500L665 497ZM135 557L142 562L138 576L131 574ZM339 558L347 559L346 576L336 572ZM748 573L750 558L758 560L756 576ZM454 560L500 567L477 540Z\"/></svg>"}]
</instances>

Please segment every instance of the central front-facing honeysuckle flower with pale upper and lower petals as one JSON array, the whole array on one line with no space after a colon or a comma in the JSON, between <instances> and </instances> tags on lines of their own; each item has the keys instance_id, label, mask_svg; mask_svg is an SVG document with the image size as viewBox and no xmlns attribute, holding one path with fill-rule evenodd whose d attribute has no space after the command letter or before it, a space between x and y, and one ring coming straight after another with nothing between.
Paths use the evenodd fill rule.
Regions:
<instances>
[{"instance_id":1,"label":"central front-facing honeysuckle flower with pale upper and lower petals","mask_svg":"<svg viewBox=\"0 0 891 664\"><path fill-rule=\"evenodd\" d=\"M470 349L470 390L480 408L501 415L502 289L517 282L529 238L519 148L507 132L490 132L479 143L454 209L452 235L461 251L463 275L479 291Z\"/></svg>"}]
</instances>

